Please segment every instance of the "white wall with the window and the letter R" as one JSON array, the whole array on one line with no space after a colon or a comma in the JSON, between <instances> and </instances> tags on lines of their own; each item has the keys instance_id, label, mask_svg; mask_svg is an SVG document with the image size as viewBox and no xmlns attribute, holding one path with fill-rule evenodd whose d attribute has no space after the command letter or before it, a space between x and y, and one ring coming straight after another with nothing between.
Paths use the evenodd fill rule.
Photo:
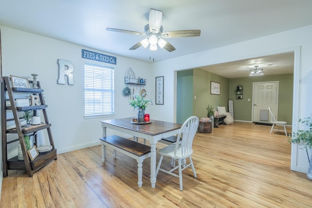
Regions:
<instances>
[{"instance_id":1,"label":"white wall with the window and the letter R","mask_svg":"<svg viewBox=\"0 0 312 208\"><path fill-rule=\"evenodd\" d=\"M99 144L99 137L102 135L100 120L136 116L136 111L128 104L128 98L122 95L125 87L124 76L129 67L137 77L147 79L145 89L148 94L154 89L151 65L144 62L8 27L1 27L1 40L3 76L29 76L32 80L31 74L39 74L38 80L44 89L47 113L58 153ZM81 49L117 57L117 65L81 58ZM57 84L59 58L74 64L74 85L68 85L67 82L65 85ZM115 116L84 119L85 62L115 68ZM139 88L136 90L138 92ZM111 133L113 132L108 130L108 134ZM40 142L43 143L42 139Z\"/></svg>"}]
</instances>

